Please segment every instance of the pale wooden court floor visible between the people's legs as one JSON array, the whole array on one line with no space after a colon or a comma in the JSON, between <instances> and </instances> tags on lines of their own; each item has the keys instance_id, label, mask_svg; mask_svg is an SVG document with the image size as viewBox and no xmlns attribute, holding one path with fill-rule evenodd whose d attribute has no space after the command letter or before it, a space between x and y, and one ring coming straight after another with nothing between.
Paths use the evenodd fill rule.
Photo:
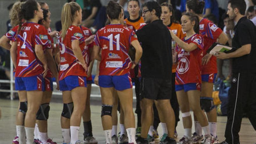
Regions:
<instances>
[{"instance_id":1,"label":"pale wooden court floor visible between the people's legs","mask_svg":"<svg viewBox=\"0 0 256 144\"><path fill-rule=\"evenodd\" d=\"M11 144L13 138L16 136L15 127L15 115L18 107L17 100L5 100L0 99L0 107L2 109L2 118L0 120L0 144ZM62 134L61 134L61 124L60 116L63 105L61 103L51 102L51 110L48 120L48 134L50 138L61 144ZM101 124L101 106L91 105L91 120L93 124L93 135L98 140L99 143L105 143L104 132L102 130ZM256 114L256 113L255 113ZM218 131L217 135L220 141L224 140L224 132L226 127L227 117L218 116ZM194 130L194 127L193 127ZM192 130L192 131L193 131ZM119 130L118 130L119 131ZM159 136L162 135L161 126L158 128ZM182 126L182 121L178 123L177 127L178 139L183 136L184 130ZM244 118L241 125L240 142L241 144L253 144L256 143L256 131L253 129L248 118ZM83 140L83 126L81 123L80 127L80 140ZM177 140L178 140L177 139Z\"/></svg>"}]
</instances>

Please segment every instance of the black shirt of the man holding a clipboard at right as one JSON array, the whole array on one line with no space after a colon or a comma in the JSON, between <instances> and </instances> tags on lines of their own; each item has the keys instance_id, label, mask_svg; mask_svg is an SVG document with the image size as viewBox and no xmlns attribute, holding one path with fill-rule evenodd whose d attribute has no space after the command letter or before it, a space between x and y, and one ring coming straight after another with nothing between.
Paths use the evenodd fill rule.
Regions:
<instances>
[{"instance_id":1,"label":"black shirt of the man holding a clipboard at right","mask_svg":"<svg viewBox=\"0 0 256 144\"><path fill-rule=\"evenodd\" d=\"M232 72L234 73L256 73L256 29L252 21L242 17L234 27L232 47L239 49L247 44L251 44L250 54L233 58Z\"/></svg>"}]
</instances>

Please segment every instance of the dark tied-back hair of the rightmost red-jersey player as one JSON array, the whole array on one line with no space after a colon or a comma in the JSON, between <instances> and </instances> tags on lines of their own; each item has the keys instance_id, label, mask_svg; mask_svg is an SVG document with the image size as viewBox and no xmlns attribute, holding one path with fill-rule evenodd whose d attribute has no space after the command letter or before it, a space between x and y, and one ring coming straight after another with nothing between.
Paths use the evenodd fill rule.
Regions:
<instances>
[{"instance_id":1,"label":"dark tied-back hair of the rightmost red-jersey player","mask_svg":"<svg viewBox=\"0 0 256 144\"><path fill-rule=\"evenodd\" d=\"M188 0L186 2L186 5L189 8L189 10L193 10L193 13L201 15L205 8L205 1Z\"/></svg>"}]
</instances>

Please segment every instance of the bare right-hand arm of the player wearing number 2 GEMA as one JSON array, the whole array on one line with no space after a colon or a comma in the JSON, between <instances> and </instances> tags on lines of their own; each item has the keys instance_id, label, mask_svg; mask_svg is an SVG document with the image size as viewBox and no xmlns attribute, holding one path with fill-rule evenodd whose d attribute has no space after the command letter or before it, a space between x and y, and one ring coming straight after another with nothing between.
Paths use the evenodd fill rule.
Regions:
<instances>
[{"instance_id":1,"label":"bare right-hand arm of the player wearing number 2 GEMA","mask_svg":"<svg viewBox=\"0 0 256 144\"><path fill-rule=\"evenodd\" d=\"M45 58L45 54L44 54L42 45L35 45L35 55L37 56L39 61L41 61L42 64L43 64L44 71L43 71L42 74L45 77L46 74L47 74L47 61L46 61L46 58Z\"/></svg>"}]
</instances>

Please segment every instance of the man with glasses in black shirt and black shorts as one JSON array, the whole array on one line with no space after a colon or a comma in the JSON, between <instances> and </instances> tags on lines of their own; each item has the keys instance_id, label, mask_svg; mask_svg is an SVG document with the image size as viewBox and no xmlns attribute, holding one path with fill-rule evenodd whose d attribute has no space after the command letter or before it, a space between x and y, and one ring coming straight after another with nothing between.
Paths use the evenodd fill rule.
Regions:
<instances>
[{"instance_id":1,"label":"man with glasses in black shirt and black shorts","mask_svg":"<svg viewBox=\"0 0 256 144\"><path fill-rule=\"evenodd\" d=\"M152 105L156 106L160 120L166 122L168 137L165 143L174 144L175 115L170 105L172 52L171 36L168 28L159 19L161 7L155 1L144 4L142 17L148 23L137 31L143 48L141 57L141 137L137 144L147 143L147 133L152 125Z\"/></svg>"}]
</instances>

